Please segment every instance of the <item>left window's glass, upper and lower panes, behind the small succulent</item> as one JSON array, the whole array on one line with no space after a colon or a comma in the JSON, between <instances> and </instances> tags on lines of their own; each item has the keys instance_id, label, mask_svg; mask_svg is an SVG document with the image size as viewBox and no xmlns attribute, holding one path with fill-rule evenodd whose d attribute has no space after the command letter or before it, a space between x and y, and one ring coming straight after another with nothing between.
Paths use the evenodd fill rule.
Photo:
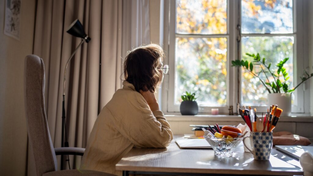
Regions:
<instances>
[{"instance_id":1,"label":"left window's glass, upper and lower panes, behind the small succulent","mask_svg":"<svg viewBox=\"0 0 313 176\"><path fill-rule=\"evenodd\" d=\"M185 91L199 106L226 105L227 38L226 0L177 0L175 105Z\"/></svg>"}]
</instances>

